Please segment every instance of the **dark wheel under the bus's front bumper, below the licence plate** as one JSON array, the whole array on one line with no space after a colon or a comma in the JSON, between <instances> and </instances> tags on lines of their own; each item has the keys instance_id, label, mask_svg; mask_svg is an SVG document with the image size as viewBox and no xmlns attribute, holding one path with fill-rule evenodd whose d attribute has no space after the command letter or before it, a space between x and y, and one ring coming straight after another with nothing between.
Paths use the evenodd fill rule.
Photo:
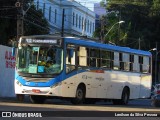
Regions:
<instances>
[{"instance_id":1,"label":"dark wheel under the bus's front bumper, below the licence plate","mask_svg":"<svg viewBox=\"0 0 160 120\"><path fill-rule=\"evenodd\" d=\"M32 103L44 103L45 102L45 97L44 96L39 96L39 95L30 95L30 100Z\"/></svg>"}]
</instances>

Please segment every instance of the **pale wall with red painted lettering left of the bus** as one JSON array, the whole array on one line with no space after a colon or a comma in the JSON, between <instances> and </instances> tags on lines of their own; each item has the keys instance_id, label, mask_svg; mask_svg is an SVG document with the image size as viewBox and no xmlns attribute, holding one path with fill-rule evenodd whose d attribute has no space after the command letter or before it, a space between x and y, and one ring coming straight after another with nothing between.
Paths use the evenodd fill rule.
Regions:
<instances>
[{"instance_id":1,"label":"pale wall with red painted lettering left of the bus","mask_svg":"<svg viewBox=\"0 0 160 120\"><path fill-rule=\"evenodd\" d=\"M15 97L15 57L11 54L11 47L0 45L0 97Z\"/></svg>"}]
</instances>

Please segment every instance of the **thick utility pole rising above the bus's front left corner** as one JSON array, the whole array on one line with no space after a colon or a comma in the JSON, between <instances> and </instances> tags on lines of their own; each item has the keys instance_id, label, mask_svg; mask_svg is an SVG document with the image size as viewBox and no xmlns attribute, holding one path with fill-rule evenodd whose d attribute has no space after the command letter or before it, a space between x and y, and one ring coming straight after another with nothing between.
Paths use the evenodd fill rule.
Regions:
<instances>
[{"instance_id":1,"label":"thick utility pole rising above the bus's front left corner","mask_svg":"<svg viewBox=\"0 0 160 120\"><path fill-rule=\"evenodd\" d=\"M17 40L23 35L23 0L17 0Z\"/></svg>"}]
</instances>

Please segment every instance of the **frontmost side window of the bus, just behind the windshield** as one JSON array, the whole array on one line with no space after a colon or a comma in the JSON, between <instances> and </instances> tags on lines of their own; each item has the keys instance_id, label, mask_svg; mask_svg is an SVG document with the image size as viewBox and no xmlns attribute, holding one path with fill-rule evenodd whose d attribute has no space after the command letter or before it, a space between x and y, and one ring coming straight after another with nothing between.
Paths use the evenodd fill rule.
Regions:
<instances>
[{"instance_id":1,"label":"frontmost side window of the bus, just behind the windshield","mask_svg":"<svg viewBox=\"0 0 160 120\"><path fill-rule=\"evenodd\" d=\"M76 69L75 50L76 47L74 45L68 44L66 51L66 73L69 73Z\"/></svg>"}]
</instances>

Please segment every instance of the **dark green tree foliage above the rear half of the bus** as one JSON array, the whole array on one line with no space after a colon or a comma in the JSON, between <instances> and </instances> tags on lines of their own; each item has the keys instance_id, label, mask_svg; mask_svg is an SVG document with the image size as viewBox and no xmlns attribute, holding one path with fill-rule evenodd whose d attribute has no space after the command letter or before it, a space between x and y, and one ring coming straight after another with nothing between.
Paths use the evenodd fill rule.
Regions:
<instances>
[{"instance_id":1,"label":"dark green tree foliage above the rear half of the bus","mask_svg":"<svg viewBox=\"0 0 160 120\"><path fill-rule=\"evenodd\" d=\"M140 41L141 49L149 50L160 40L160 0L107 0L106 8L107 31L119 20L125 21L110 31L106 42L138 49ZM113 11L117 14L110 17Z\"/></svg>"}]
</instances>

